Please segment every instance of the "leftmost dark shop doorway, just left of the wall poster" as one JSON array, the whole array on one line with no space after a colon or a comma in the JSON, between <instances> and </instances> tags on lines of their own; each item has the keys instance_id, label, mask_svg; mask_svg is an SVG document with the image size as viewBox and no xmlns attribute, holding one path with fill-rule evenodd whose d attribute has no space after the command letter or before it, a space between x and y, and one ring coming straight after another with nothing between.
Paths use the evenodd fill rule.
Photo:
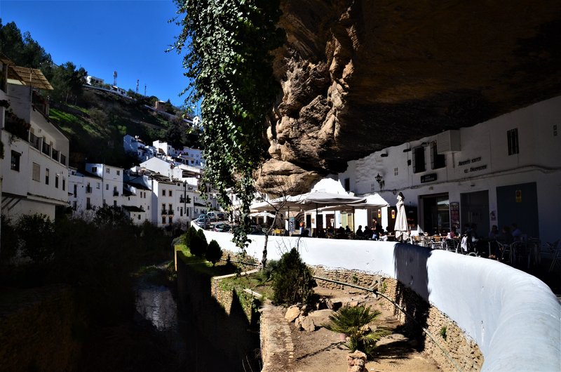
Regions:
<instances>
[{"instance_id":1,"label":"leftmost dark shop doorway, just left of the wall poster","mask_svg":"<svg viewBox=\"0 0 561 372\"><path fill-rule=\"evenodd\" d=\"M440 234L450 231L450 200L448 193L422 195L423 225L421 229L428 234Z\"/></svg>"}]
</instances>

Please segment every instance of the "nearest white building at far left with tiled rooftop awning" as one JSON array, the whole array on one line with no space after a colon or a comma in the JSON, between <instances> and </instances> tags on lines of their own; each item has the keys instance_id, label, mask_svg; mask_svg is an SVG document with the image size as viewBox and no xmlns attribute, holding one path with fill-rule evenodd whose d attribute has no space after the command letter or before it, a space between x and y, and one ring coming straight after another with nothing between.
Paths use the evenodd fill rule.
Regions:
<instances>
[{"instance_id":1,"label":"nearest white building at far left with tiled rooftop awning","mask_svg":"<svg viewBox=\"0 0 561 372\"><path fill-rule=\"evenodd\" d=\"M0 65L2 215L54 219L55 208L67 206L69 140L48 120L48 101L39 94L53 88L39 69L6 58Z\"/></svg>"}]
</instances>

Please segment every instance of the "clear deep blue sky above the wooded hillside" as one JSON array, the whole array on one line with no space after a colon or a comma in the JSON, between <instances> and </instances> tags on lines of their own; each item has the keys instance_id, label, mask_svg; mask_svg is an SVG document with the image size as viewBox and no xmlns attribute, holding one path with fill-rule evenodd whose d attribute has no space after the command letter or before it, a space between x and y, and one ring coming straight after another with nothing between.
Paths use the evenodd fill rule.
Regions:
<instances>
[{"instance_id":1,"label":"clear deep blue sky above the wooded hillside","mask_svg":"<svg viewBox=\"0 0 561 372\"><path fill-rule=\"evenodd\" d=\"M88 74L181 106L187 87L182 55L165 53L180 27L171 0L0 0L2 24L29 31L53 61L73 62ZM9 56L8 56L9 57Z\"/></svg>"}]
</instances>

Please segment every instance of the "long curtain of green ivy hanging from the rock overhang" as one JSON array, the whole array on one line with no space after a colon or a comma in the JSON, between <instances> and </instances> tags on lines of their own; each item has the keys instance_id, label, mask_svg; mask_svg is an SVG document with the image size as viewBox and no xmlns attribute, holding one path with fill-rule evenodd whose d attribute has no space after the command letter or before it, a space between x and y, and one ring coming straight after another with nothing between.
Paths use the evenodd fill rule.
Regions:
<instances>
[{"instance_id":1,"label":"long curtain of green ivy hanging from the rock overhang","mask_svg":"<svg viewBox=\"0 0 561 372\"><path fill-rule=\"evenodd\" d=\"M255 191L252 174L266 154L266 113L280 88L270 53L285 37L276 26L279 1L175 3L183 32L173 47L178 53L187 49L183 67L191 79L186 106L201 101L207 163L201 183L218 190L223 206L231 203L231 188L241 199L242 213L248 213ZM234 232L234 242L245 247L245 230Z\"/></svg>"}]
</instances>

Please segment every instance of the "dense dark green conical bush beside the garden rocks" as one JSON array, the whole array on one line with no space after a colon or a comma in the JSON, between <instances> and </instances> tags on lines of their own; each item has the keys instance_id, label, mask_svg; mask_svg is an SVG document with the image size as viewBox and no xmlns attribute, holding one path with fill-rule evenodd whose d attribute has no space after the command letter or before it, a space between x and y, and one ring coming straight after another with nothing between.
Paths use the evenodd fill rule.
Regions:
<instances>
[{"instance_id":1,"label":"dense dark green conical bush beside the garden rocks","mask_svg":"<svg viewBox=\"0 0 561 372\"><path fill-rule=\"evenodd\" d=\"M296 248L282 255L273 275L273 302L278 305L307 303L316 281Z\"/></svg>"}]
</instances>

